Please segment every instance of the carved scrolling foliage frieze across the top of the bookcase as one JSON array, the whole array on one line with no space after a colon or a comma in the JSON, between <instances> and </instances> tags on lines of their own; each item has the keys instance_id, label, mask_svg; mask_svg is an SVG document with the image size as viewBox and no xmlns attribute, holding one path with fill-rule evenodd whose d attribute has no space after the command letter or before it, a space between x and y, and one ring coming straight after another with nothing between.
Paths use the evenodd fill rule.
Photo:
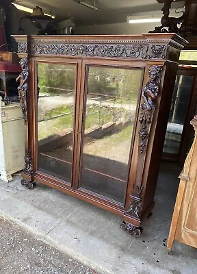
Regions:
<instances>
[{"instance_id":1,"label":"carved scrolling foliage frieze across the top of the bookcase","mask_svg":"<svg viewBox=\"0 0 197 274\"><path fill-rule=\"evenodd\" d=\"M102 58L158 59L166 58L166 45L159 44L68 44L36 43L31 45L33 55L68 55ZM27 53L27 42L18 42L18 53Z\"/></svg>"}]
</instances>

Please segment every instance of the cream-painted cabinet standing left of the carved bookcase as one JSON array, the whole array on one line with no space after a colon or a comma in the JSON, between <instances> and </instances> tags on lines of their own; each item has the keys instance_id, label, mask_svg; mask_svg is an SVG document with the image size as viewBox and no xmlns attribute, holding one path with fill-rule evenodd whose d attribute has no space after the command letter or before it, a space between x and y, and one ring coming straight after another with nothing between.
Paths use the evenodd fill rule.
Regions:
<instances>
[{"instance_id":1,"label":"cream-painted cabinet standing left of the carved bookcase","mask_svg":"<svg viewBox=\"0 0 197 274\"><path fill-rule=\"evenodd\" d=\"M12 181L12 174L25 167L25 134L20 103L5 105L0 100L0 179Z\"/></svg>"}]
</instances>

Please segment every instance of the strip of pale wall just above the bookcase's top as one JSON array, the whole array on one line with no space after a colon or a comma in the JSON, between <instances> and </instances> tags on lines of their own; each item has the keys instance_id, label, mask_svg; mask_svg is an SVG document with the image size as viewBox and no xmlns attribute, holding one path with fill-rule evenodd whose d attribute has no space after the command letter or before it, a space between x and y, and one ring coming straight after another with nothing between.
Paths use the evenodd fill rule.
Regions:
<instances>
[{"instance_id":1,"label":"strip of pale wall just above the bookcase's top","mask_svg":"<svg viewBox=\"0 0 197 274\"><path fill-rule=\"evenodd\" d=\"M116 23L106 25L75 26L75 34L146 34L159 23Z\"/></svg>"}]
</instances>

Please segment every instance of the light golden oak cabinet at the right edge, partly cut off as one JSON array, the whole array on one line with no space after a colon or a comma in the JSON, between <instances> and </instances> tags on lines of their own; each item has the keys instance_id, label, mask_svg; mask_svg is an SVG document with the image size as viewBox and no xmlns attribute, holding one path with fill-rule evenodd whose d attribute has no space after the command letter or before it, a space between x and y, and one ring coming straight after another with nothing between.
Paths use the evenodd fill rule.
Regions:
<instances>
[{"instance_id":1,"label":"light golden oak cabinet at the right edge, partly cut off","mask_svg":"<svg viewBox=\"0 0 197 274\"><path fill-rule=\"evenodd\" d=\"M180 184L172 216L168 249L172 249L174 240L197 248L197 116L191 124L195 129L195 137L179 176Z\"/></svg>"}]
</instances>

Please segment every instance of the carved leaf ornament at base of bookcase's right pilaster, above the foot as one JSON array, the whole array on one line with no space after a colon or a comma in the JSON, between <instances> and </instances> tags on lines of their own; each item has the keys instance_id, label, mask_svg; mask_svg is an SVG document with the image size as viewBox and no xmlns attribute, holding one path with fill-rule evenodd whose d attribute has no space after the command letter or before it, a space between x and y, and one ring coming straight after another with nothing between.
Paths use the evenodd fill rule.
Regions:
<instances>
[{"instance_id":1,"label":"carved leaf ornament at base of bookcase's right pilaster, above the foot","mask_svg":"<svg viewBox=\"0 0 197 274\"><path fill-rule=\"evenodd\" d=\"M133 187L133 194L130 196L131 202L127 213L132 214L133 216L136 216L137 218L140 218L142 215L142 190L143 186L134 186Z\"/></svg>"}]
</instances>

